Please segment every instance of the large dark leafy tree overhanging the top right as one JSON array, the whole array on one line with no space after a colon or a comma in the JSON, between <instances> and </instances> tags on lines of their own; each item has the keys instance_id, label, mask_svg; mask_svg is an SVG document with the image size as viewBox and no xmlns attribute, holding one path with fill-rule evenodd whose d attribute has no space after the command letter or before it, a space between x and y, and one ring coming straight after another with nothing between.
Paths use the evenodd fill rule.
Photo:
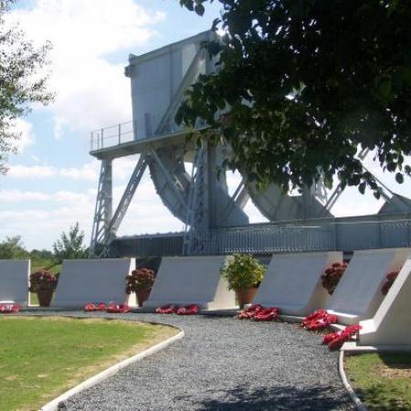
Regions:
<instances>
[{"instance_id":1,"label":"large dark leafy tree overhanging the top right","mask_svg":"<svg viewBox=\"0 0 411 411\"><path fill-rule=\"evenodd\" d=\"M202 15L213 0L180 0ZM226 165L259 182L379 187L360 148L395 173L411 167L410 0L218 0L226 31L207 45L218 72L200 76L176 121L210 125ZM220 113L228 114L220 115Z\"/></svg>"}]
</instances>

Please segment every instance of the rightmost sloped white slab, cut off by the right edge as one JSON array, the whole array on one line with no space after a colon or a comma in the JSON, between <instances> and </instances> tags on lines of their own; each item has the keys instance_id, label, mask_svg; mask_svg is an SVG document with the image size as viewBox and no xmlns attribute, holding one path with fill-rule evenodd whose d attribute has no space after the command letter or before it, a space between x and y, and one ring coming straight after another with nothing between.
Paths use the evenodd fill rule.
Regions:
<instances>
[{"instance_id":1,"label":"rightmost sloped white slab, cut off by the right edge","mask_svg":"<svg viewBox=\"0 0 411 411\"><path fill-rule=\"evenodd\" d=\"M361 321L360 346L411 352L411 257L406 261L378 311Z\"/></svg>"}]
</instances>

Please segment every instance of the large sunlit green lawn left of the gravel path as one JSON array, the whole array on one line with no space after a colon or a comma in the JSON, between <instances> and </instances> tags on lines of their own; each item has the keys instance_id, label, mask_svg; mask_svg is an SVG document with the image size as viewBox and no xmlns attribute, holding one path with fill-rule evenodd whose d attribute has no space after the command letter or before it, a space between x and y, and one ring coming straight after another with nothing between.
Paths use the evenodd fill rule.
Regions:
<instances>
[{"instance_id":1,"label":"large sunlit green lawn left of the gravel path","mask_svg":"<svg viewBox=\"0 0 411 411\"><path fill-rule=\"evenodd\" d=\"M0 317L0 410L37 410L175 333L171 327L131 321Z\"/></svg>"}]
</instances>

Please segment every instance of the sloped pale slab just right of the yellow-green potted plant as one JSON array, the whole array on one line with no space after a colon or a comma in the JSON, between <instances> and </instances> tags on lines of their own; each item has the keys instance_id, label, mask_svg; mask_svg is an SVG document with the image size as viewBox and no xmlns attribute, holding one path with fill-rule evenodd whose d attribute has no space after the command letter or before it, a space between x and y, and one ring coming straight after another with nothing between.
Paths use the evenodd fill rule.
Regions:
<instances>
[{"instance_id":1,"label":"sloped pale slab just right of the yellow-green potted plant","mask_svg":"<svg viewBox=\"0 0 411 411\"><path fill-rule=\"evenodd\" d=\"M279 307L281 315L305 317L323 308L329 294L321 274L333 262L342 262L342 252L274 254L253 304Z\"/></svg>"}]
</instances>

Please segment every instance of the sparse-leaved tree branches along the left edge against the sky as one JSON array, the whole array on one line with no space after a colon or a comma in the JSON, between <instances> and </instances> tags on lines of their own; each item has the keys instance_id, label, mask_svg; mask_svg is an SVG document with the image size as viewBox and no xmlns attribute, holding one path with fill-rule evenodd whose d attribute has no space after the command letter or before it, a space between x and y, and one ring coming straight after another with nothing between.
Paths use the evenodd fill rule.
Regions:
<instances>
[{"instance_id":1,"label":"sparse-leaved tree branches along the left edge against the sky","mask_svg":"<svg viewBox=\"0 0 411 411\"><path fill-rule=\"evenodd\" d=\"M12 3L0 2L0 173L6 172L8 154L16 150L20 136L14 128L16 118L30 111L30 103L47 104L52 100L46 89L47 76L40 74L50 44L34 47L18 26L7 24L7 10Z\"/></svg>"}]
</instances>

